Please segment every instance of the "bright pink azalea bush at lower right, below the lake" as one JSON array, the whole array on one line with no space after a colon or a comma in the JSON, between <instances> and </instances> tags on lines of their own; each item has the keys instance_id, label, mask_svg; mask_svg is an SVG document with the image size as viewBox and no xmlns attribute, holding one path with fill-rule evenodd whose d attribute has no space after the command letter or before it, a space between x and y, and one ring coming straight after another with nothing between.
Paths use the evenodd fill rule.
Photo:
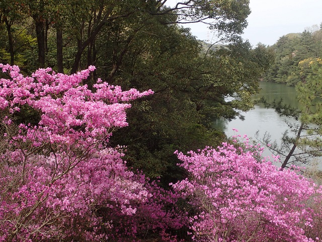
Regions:
<instances>
[{"instance_id":1,"label":"bright pink azalea bush at lower right, below the lake","mask_svg":"<svg viewBox=\"0 0 322 242\"><path fill-rule=\"evenodd\" d=\"M318 239L308 238L305 231L316 228L313 219L321 217L310 207L320 201L322 191L297 172L280 170L265 159L258 162L254 152L227 143L218 150L176 154L189 178L172 186L197 209L190 218L194 240Z\"/></svg>"}]
</instances>

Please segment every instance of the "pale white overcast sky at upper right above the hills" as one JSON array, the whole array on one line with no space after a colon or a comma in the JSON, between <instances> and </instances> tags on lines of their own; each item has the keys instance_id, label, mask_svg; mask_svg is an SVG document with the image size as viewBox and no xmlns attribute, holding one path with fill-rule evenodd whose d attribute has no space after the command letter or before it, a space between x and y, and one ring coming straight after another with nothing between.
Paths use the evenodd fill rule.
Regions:
<instances>
[{"instance_id":1,"label":"pale white overcast sky at upper right above the hills","mask_svg":"<svg viewBox=\"0 0 322 242\"><path fill-rule=\"evenodd\" d=\"M250 0L250 8L252 13L243 38L254 46L259 42L272 45L283 35L301 33L322 22L322 0ZM212 34L205 25L185 26L198 39L211 42Z\"/></svg>"}]
</instances>

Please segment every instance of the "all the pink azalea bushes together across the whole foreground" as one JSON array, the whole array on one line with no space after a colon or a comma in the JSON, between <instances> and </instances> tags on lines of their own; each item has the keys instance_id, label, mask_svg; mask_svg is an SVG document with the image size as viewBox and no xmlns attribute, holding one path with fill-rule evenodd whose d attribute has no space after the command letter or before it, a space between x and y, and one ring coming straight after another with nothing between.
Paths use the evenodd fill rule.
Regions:
<instances>
[{"instance_id":1,"label":"all the pink azalea bushes together across the whole foreground","mask_svg":"<svg viewBox=\"0 0 322 242\"><path fill-rule=\"evenodd\" d=\"M296 170L261 159L237 140L188 155L188 177L159 188L110 147L126 109L151 90L122 91L95 67L68 76L23 77L0 64L0 241L318 241L322 189ZM30 123L27 122L30 120ZM184 235L181 235L185 237Z\"/></svg>"}]
</instances>

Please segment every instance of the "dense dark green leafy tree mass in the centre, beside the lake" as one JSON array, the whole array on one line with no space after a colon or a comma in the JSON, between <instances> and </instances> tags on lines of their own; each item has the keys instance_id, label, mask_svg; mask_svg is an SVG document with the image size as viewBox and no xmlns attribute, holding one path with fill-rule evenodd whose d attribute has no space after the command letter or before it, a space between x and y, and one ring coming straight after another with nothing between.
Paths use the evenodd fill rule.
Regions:
<instances>
[{"instance_id":1,"label":"dense dark green leafy tree mass in the centre, beside the lake","mask_svg":"<svg viewBox=\"0 0 322 242\"><path fill-rule=\"evenodd\" d=\"M126 58L135 65L122 66L122 79L115 79L140 90L151 88L155 94L133 105L129 128L114 138L134 151L128 153L129 165L173 181L180 172L173 151L218 146L224 137L210 129L208 118L233 118L238 110L252 108L251 96L272 55L241 41L201 55L198 41L177 27L145 38Z\"/></svg>"}]
</instances>

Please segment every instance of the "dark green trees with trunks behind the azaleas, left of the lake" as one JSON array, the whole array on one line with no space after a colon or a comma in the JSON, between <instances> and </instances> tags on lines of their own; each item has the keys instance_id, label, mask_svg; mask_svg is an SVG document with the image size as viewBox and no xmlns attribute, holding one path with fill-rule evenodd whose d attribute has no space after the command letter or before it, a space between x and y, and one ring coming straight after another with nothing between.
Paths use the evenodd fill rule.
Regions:
<instances>
[{"instance_id":1,"label":"dark green trees with trunks behind the azaleas, left of the lake","mask_svg":"<svg viewBox=\"0 0 322 242\"><path fill-rule=\"evenodd\" d=\"M129 127L114 132L112 144L127 146L134 169L177 177L174 150L218 145L223 136L210 129L208 118L252 108L272 58L239 37L250 13L247 1L185 2L169 8L156 0L2 1L0 63L18 65L23 74L39 67L73 74L94 65L84 82L90 88L101 78L126 89L152 89L153 96L133 103ZM204 19L215 19L215 50L205 51L178 25Z\"/></svg>"}]
</instances>

